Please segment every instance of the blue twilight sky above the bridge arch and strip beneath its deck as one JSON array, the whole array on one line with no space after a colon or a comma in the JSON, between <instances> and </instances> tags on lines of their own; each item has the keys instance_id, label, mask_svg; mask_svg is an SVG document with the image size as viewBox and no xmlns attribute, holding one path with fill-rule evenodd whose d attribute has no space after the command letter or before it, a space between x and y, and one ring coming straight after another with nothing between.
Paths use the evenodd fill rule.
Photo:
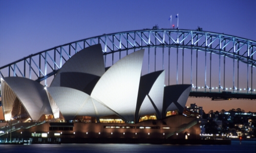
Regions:
<instances>
[{"instance_id":1,"label":"blue twilight sky above the bridge arch and strip beneath its deck","mask_svg":"<svg viewBox=\"0 0 256 153\"><path fill-rule=\"evenodd\" d=\"M255 0L0 0L0 67L57 45L104 33L141 30L155 24L160 28L170 28L170 15L173 16L172 23L177 26L177 13L180 29L194 30L200 25L204 31L256 40L255 7ZM201 100L204 99L193 101L205 109L215 103L201 103ZM255 106L255 102L246 100L246 105L242 106L247 108L239 104L230 104L224 109L240 107L256 112L249 107L251 104Z\"/></svg>"}]
</instances>

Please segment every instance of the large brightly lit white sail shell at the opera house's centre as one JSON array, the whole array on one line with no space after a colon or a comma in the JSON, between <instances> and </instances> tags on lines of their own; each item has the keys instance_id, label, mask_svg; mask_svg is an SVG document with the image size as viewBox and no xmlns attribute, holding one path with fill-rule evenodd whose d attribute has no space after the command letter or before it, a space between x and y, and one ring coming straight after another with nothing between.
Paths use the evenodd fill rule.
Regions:
<instances>
[{"instance_id":1,"label":"large brightly lit white sail shell at the opera house's centre","mask_svg":"<svg viewBox=\"0 0 256 153\"><path fill-rule=\"evenodd\" d=\"M134 121L144 49L125 56L110 67L91 96L126 121Z\"/></svg>"}]
</instances>

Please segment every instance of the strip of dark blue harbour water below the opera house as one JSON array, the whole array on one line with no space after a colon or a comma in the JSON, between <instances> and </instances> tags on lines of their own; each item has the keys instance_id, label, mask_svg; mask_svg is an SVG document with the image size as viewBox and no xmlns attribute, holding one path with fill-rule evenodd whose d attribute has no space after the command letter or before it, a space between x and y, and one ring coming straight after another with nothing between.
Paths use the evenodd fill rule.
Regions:
<instances>
[{"instance_id":1,"label":"strip of dark blue harbour water below the opera house","mask_svg":"<svg viewBox=\"0 0 256 153\"><path fill-rule=\"evenodd\" d=\"M0 152L256 152L256 141L232 141L231 145L174 144L31 144L0 145Z\"/></svg>"}]
</instances>

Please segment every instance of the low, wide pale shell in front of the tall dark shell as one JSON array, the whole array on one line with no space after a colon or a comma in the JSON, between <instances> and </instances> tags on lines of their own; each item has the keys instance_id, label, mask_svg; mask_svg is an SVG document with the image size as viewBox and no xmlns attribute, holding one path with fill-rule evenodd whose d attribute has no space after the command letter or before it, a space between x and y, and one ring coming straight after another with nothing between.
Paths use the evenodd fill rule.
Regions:
<instances>
[{"instance_id":1,"label":"low, wide pale shell in front of the tall dark shell","mask_svg":"<svg viewBox=\"0 0 256 153\"><path fill-rule=\"evenodd\" d=\"M115 114L87 93L76 89L49 87L47 92L51 95L66 120L72 120L77 115L101 117Z\"/></svg>"}]
</instances>

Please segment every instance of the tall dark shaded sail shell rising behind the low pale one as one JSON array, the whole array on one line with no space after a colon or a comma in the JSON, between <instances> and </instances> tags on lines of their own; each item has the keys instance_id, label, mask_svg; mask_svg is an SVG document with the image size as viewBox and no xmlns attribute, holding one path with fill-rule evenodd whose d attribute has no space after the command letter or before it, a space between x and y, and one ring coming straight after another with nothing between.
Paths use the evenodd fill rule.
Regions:
<instances>
[{"instance_id":1,"label":"tall dark shaded sail shell rising behind the low pale one","mask_svg":"<svg viewBox=\"0 0 256 153\"><path fill-rule=\"evenodd\" d=\"M104 72L101 45L92 45L80 50L59 69L51 87L62 86L83 91L88 84L99 79Z\"/></svg>"}]
</instances>

